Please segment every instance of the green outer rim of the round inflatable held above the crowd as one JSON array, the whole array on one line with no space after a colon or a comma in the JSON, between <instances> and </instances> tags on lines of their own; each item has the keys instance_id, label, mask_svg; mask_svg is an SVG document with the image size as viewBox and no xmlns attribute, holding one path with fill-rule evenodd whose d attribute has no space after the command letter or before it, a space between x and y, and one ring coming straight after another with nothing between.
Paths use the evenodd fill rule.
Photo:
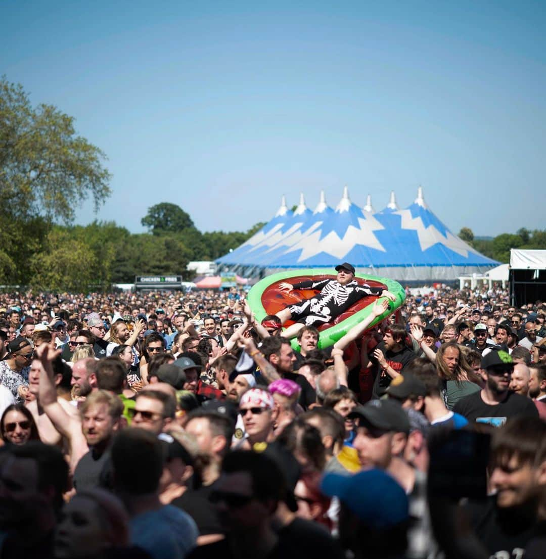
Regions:
<instances>
[{"instance_id":1,"label":"green outer rim of the round inflatable held above the crowd","mask_svg":"<svg viewBox=\"0 0 546 559\"><path fill-rule=\"evenodd\" d=\"M289 272L280 272L277 274L271 274L260 280L256 285L252 286L251 290L248 292L247 300L248 305L252 309L252 312L256 316L256 320L262 320L264 316L267 315L266 310L262 305L262 295L263 292L272 284L281 280L288 280L288 278L296 276L332 276L331 268L312 268L312 269L302 269L302 270L291 270ZM379 276L369 276L368 274L355 274L356 277L363 278L364 280L373 280L383 283L387 286L387 289L396 296L396 301L390 303L389 309L386 310L382 315L378 316L371 324L375 324L385 320L388 316L392 315L397 309L399 309L403 302L406 300L406 292L404 288L394 280L389 278L383 278ZM392 308L391 308L392 307ZM322 331L318 338L318 348L323 349L330 347L335 344L338 339L342 338L353 326L360 323L366 318L371 312L371 305L368 305L364 309L355 312L355 314L349 316L345 320L342 320L338 324L334 324L327 330ZM291 340L292 347L299 350L298 340L293 338Z\"/></svg>"}]
</instances>

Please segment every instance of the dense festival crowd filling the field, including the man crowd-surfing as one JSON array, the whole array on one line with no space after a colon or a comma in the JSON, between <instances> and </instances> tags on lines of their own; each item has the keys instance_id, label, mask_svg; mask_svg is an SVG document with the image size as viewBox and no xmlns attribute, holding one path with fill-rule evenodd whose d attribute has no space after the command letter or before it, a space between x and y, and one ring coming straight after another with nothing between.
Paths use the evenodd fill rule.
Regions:
<instances>
[{"instance_id":1,"label":"dense festival crowd filling the field, including the man crowd-surfing","mask_svg":"<svg viewBox=\"0 0 546 559\"><path fill-rule=\"evenodd\" d=\"M336 273L0 294L0 558L546 557L546 304Z\"/></svg>"}]
</instances>

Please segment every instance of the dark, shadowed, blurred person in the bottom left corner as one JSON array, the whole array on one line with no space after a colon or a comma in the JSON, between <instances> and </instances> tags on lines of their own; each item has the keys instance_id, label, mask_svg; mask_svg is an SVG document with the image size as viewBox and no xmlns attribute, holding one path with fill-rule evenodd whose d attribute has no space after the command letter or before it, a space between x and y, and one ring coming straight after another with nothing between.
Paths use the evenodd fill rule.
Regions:
<instances>
[{"instance_id":1,"label":"dark, shadowed, blurred person in the bottom left corner","mask_svg":"<svg viewBox=\"0 0 546 559\"><path fill-rule=\"evenodd\" d=\"M0 457L0 557L49 559L63 506L68 466L63 453L31 440Z\"/></svg>"}]
</instances>

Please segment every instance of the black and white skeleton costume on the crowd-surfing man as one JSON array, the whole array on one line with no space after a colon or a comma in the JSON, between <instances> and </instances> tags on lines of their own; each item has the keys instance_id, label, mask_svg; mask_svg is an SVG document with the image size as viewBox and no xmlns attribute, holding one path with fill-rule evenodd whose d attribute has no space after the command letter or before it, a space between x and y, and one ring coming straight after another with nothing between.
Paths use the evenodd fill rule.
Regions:
<instances>
[{"instance_id":1,"label":"black and white skeleton costume on the crowd-surfing man","mask_svg":"<svg viewBox=\"0 0 546 559\"><path fill-rule=\"evenodd\" d=\"M383 287L370 287L352 280L347 285L341 285L337 280L307 280L295 283L294 289L321 290L318 295L288 308L291 319L306 326L320 326L335 320L340 314L349 309L363 297L381 295Z\"/></svg>"}]
</instances>

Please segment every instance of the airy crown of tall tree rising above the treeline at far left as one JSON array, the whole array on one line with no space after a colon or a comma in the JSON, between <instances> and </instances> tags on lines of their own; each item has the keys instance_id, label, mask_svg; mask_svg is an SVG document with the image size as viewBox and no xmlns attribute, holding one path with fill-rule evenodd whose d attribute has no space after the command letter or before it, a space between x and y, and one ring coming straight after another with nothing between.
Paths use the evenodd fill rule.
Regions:
<instances>
[{"instance_id":1,"label":"airy crown of tall tree rising above the treeline at far left","mask_svg":"<svg viewBox=\"0 0 546 559\"><path fill-rule=\"evenodd\" d=\"M89 195L95 211L110 195L105 154L76 135L74 119L51 105L32 108L20 84L0 79L0 207L11 219L69 223Z\"/></svg>"}]
</instances>

